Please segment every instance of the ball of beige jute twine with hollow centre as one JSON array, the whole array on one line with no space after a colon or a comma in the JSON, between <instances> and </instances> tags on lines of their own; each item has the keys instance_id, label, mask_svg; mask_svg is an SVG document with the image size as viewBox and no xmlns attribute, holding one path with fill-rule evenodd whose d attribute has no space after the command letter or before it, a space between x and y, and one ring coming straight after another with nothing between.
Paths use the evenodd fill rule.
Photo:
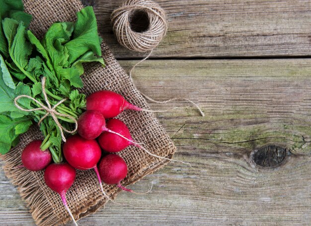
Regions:
<instances>
[{"instance_id":1,"label":"ball of beige jute twine with hollow centre","mask_svg":"<svg viewBox=\"0 0 311 226\"><path fill-rule=\"evenodd\" d=\"M149 27L137 32L131 27L131 19L136 12L146 13ZM118 42L133 51L146 52L156 48L167 31L164 10L151 0L128 0L111 14L113 32Z\"/></svg>"}]
</instances>

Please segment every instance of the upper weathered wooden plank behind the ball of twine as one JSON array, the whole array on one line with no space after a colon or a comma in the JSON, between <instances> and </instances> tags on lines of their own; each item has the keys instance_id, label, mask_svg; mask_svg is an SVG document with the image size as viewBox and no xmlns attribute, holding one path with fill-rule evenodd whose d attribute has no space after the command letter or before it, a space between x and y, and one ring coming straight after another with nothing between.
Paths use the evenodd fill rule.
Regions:
<instances>
[{"instance_id":1,"label":"upper weathered wooden plank behind the ball of twine","mask_svg":"<svg viewBox=\"0 0 311 226\"><path fill-rule=\"evenodd\" d=\"M110 24L123 0L94 5L99 32L117 58L143 56L121 47ZM168 32L151 57L310 56L310 0L157 0Z\"/></svg>"}]
</instances>

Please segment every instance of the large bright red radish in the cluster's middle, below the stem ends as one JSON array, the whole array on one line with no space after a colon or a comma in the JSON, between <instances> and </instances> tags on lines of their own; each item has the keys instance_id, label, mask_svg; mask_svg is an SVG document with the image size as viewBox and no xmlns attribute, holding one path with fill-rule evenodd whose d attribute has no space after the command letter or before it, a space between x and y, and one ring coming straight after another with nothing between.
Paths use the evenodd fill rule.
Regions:
<instances>
[{"instance_id":1,"label":"large bright red radish in the cluster's middle, below the stem ends","mask_svg":"<svg viewBox=\"0 0 311 226\"><path fill-rule=\"evenodd\" d=\"M87 140L78 134L73 135L64 143L63 153L65 159L72 167L81 170L94 169L102 193L109 198L104 192L97 169L97 163L101 157L101 149L96 140Z\"/></svg>"}]
</instances>

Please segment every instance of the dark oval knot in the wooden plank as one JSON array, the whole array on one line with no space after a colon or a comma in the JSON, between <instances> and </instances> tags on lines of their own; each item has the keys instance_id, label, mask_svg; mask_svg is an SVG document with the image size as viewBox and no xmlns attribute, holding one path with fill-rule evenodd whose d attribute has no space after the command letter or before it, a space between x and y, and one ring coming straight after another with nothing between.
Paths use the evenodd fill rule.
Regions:
<instances>
[{"instance_id":1,"label":"dark oval knot in the wooden plank","mask_svg":"<svg viewBox=\"0 0 311 226\"><path fill-rule=\"evenodd\" d=\"M269 145L259 148L253 154L253 161L262 167L275 167L278 166L286 157L286 149Z\"/></svg>"}]
</instances>

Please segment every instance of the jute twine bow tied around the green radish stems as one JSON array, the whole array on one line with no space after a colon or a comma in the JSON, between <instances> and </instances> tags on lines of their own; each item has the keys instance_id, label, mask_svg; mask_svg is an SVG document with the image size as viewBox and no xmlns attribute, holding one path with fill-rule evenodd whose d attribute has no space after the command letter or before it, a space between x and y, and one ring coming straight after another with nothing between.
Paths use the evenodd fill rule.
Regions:
<instances>
[{"instance_id":1,"label":"jute twine bow tied around the green radish stems","mask_svg":"<svg viewBox=\"0 0 311 226\"><path fill-rule=\"evenodd\" d=\"M51 106L49 100L48 100L48 96L45 92L45 81L46 81L46 77L43 77L42 78L42 93L44 95L44 100L47 104L47 106L43 105L41 102L37 101L36 99L34 99L33 97L31 96L28 96L28 95L20 95L18 97L16 97L14 99L14 105L16 108L18 108L19 110L21 111L24 111L24 112L35 112L35 111L40 111L40 110L43 110L43 111L46 111L46 114L39 120L38 122L38 125L40 125L40 123L43 121L44 118L46 118L49 114L52 116L52 118L54 119L56 125L58 126L58 128L60 129L60 132L61 132L61 135L62 135L62 139L64 142L66 142L66 138L65 138L65 135L64 135L64 131L68 132L68 133L75 133L78 129L78 121L75 117L73 117L72 115L69 115L69 114L63 114L63 113L59 113L57 112L55 109L57 106L59 106L60 104L62 104L64 101L67 100L67 98L61 100L60 102L58 102L56 105L54 105L53 107ZM34 101L35 103L37 103L38 105L41 106L41 108L35 108L35 109L24 109L22 107L19 106L19 104L17 103L17 101L20 99L20 98L28 98L32 101ZM67 117L67 118L70 118L72 119L74 122L75 122L75 129L74 130L68 130L66 129L64 126L62 126L62 124L59 122L57 116L63 116L63 117Z\"/></svg>"}]
</instances>

